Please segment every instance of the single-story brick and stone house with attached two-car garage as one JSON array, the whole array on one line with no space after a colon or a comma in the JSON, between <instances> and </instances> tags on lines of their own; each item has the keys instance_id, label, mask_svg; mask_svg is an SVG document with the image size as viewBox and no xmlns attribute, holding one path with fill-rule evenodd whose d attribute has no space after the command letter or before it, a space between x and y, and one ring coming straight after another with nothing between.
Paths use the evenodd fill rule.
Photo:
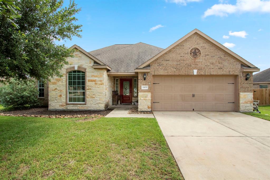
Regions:
<instances>
[{"instance_id":1,"label":"single-story brick and stone house with attached two-car garage","mask_svg":"<svg viewBox=\"0 0 270 180\"><path fill-rule=\"evenodd\" d=\"M253 109L252 73L259 69L198 29L166 49L142 42L90 52L71 48L75 57L43 97L49 110L104 110L114 90L122 103L138 100L139 111Z\"/></svg>"}]
</instances>

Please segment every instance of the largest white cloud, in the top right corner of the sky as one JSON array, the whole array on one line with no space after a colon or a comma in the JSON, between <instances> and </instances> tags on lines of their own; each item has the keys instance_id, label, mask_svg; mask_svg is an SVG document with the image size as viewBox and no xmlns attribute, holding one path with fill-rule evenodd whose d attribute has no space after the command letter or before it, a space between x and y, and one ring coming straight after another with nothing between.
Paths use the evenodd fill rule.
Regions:
<instances>
[{"instance_id":1,"label":"largest white cloud, in the top right corner of the sky","mask_svg":"<svg viewBox=\"0 0 270 180\"><path fill-rule=\"evenodd\" d=\"M256 0L237 0L235 5L232 4L215 4L211 8L208 8L203 15L203 18L211 15L215 16L228 16L233 13L244 13L244 12L261 12L270 13L270 1Z\"/></svg>"}]
</instances>

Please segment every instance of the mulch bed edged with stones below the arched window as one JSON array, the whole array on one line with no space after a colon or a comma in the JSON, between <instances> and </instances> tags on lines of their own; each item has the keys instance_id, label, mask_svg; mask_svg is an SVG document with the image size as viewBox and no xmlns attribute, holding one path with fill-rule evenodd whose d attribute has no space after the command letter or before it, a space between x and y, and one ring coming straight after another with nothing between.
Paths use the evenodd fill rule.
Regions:
<instances>
[{"instance_id":1,"label":"mulch bed edged with stones below the arched window","mask_svg":"<svg viewBox=\"0 0 270 180\"><path fill-rule=\"evenodd\" d=\"M105 111L48 111L48 108L32 108L25 110L0 111L0 116L25 116L42 118L101 118L109 114L113 109Z\"/></svg>"}]
</instances>

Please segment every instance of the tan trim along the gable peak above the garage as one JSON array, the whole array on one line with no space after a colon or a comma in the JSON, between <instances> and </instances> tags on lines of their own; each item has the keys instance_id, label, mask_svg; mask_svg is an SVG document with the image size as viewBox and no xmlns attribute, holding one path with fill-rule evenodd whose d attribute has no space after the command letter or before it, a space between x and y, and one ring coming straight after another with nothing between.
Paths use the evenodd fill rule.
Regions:
<instances>
[{"instance_id":1,"label":"tan trim along the gable peak above the garage","mask_svg":"<svg viewBox=\"0 0 270 180\"><path fill-rule=\"evenodd\" d=\"M239 62L241 62L241 64L248 66L250 68L257 68L256 66L254 66L253 64L251 64L250 62L248 62L247 60L245 60L244 58L242 58L241 56L235 54L234 52L232 52L230 49L226 48L225 46L223 46L222 44L220 44L219 42L215 41L214 39L210 38L209 36L207 36L206 34L204 34L203 32L201 32L198 29L194 29L193 31L189 32L187 35L185 35L183 38L179 39L178 41L176 41L174 44L170 45L169 47L167 47L166 49L164 49L163 51L159 52L157 55L153 56L152 58L150 58L148 61L144 62L143 64L141 64L140 66L138 66L138 68L143 68L147 65L149 65L151 62L153 62L154 60L156 60L158 57L160 57L161 55L165 54L166 52L168 52L170 49L174 48L175 46L177 46L179 43L181 43L182 41L184 41L185 39L187 39L188 37L190 37L193 34L197 34L200 37L204 38L205 40L207 40L208 42L210 42L211 44L214 44L218 49L220 49L221 51L226 52L227 54L231 55L234 59L238 60Z\"/></svg>"}]
</instances>

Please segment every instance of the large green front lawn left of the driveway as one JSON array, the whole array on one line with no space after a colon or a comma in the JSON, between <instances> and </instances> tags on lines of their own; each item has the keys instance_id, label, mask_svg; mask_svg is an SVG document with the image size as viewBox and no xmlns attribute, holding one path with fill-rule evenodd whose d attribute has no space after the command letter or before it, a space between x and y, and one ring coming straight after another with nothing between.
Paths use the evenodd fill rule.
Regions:
<instances>
[{"instance_id":1,"label":"large green front lawn left of the driveway","mask_svg":"<svg viewBox=\"0 0 270 180\"><path fill-rule=\"evenodd\" d=\"M154 118L0 116L0 179L183 179Z\"/></svg>"}]
</instances>

